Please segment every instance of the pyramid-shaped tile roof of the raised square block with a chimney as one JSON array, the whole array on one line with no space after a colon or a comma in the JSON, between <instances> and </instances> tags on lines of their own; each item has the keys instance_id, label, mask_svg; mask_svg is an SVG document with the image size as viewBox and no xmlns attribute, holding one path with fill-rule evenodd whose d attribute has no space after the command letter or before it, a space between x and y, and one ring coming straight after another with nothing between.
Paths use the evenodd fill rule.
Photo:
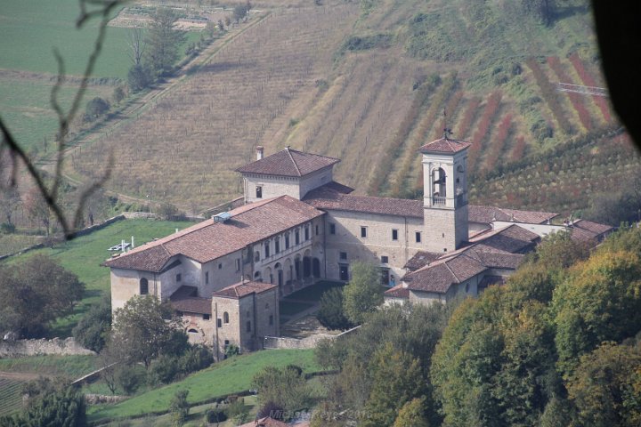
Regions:
<instances>
[{"instance_id":1,"label":"pyramid-shaped tile roof of the raised square block with a chimney","mask_svg":"<svg viewBox=\"0 0 641 427\"><path fill-rule=\"evenodd\" d=\"M272 156L244 165L236 169L239 173L258 173L279 176L304 176L340 162L334 157L304 153L296 149L283 149Z\"/></svg>"}]
</instances>

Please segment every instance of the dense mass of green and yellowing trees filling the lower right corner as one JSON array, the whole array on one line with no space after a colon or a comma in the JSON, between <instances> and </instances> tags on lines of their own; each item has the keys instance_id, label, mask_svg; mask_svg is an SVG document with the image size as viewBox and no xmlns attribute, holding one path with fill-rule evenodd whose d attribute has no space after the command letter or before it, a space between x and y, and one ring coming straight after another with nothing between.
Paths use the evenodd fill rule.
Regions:
<instances>
[{"instance_id":1,"label":"dense mass of green and yellowing trees filling the lower right corner","mask_svg":"<svg viewBox=\"0 0 641 427\"><path fill-rule=\"evenodd\" d=\"M478 299L372 313L318 348L339 374L312 425L639 425L640 257L637 228L556 234Z\"/></svg>"}]
</instances>

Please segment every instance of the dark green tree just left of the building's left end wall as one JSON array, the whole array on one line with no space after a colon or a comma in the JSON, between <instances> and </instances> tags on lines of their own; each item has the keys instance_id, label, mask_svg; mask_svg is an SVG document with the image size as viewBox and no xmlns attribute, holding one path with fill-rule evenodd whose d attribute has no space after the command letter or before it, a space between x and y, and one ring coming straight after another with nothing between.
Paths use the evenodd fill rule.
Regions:
<instances>
[{"instance_id":1,"label":"dark green tree just left of the building's left end wall","mask_svg":"<svg viewBox=\"0 0 641 427\"><path fill-rule=\"evenodd\" d=\"M110 330L111 299L107 296L85 313L85 316L80 319L72 333L76 342L85 347L85 349L100 352L102 347L105 346Z\"/></svg>"}]
</instances>

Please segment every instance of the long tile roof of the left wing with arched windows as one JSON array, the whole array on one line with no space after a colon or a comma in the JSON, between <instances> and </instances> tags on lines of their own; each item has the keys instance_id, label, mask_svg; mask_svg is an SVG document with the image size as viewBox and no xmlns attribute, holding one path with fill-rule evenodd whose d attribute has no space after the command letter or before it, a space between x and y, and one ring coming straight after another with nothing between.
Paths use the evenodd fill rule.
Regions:
<instances>
[{"instance_id":1,"label":"long tile roof of the left wing with arched windows","mask_svg":"<svg viewBox=\"0 0 641 427\"><path fill-rule=\"evenodd\" d=\"M200 263L210 262L323 213L293 197L280 196L241 206L230 211L230 214L231 220L227 222L200 222L166 238L139 246L103 265L158 272L177 255Z\"/></svg>"}]
</instances>

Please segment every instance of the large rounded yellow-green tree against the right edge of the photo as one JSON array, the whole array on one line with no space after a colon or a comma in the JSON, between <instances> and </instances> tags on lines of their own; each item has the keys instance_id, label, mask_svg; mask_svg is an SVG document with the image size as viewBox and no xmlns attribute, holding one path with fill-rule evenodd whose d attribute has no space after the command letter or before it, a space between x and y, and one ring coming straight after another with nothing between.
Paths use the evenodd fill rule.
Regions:
<instances>
[{"instance_id":1,"label":"large rounded yellow-green tree against the right edge of the photo","mask_svg":"<svg viewBox=\"0 0 641 427\"><path fill-rule=\"evenodd\" d=\"M629 252L594 254L556 287L552 308L559 367L569 375L582 354L641 328L641 260Z\"/></svg>"}]
</instances>

